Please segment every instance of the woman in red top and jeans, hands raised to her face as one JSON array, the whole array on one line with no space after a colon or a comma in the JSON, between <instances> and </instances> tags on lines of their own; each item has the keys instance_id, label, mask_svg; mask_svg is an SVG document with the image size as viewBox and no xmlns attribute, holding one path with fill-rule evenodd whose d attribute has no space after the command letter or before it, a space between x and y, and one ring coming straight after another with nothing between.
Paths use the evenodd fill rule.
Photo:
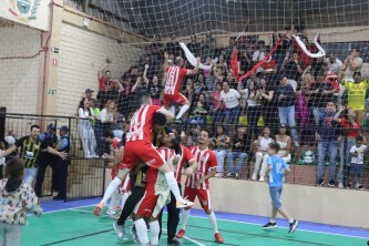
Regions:
<instances>
[{"instance_id":1,"label":"woman in red top and jeans, hands raised to her face","mask_svg":"<svg viewBox=\"0 0 369 246\"><path fill-rule=\"evenodd\" d=\"M344 113L344 116L341 116ZM342 127L342 135L339 137L339 172L338 172L338 187L344 188L345 177L345 163L349 164L349 152L355 145L357 135L360 134L360 125L356 119L355 111L352 109L346 110L341 106L336 113L334 121L337 121Z\"/></svg>"}]
</instances>

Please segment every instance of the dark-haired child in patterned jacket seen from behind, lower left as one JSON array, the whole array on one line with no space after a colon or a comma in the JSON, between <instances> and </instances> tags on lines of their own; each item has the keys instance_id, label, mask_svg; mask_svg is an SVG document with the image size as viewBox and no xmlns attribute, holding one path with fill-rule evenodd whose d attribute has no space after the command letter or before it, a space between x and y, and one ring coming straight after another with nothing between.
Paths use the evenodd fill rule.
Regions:
<instances>
[{"instance_id":1,"label":"dark-haired child in patterned jacket seen from behind, lower left","mask_svg":"<svg viewBox=\"0 0 369 246\"><path fill-rule=\"evenodd\" d=\"M42 214L32 187L22 183L24 165L21 158L13 157L7 163L8 178L0 181L0 245L20 245L27 212Z\"/></svg>"}]
</instances>

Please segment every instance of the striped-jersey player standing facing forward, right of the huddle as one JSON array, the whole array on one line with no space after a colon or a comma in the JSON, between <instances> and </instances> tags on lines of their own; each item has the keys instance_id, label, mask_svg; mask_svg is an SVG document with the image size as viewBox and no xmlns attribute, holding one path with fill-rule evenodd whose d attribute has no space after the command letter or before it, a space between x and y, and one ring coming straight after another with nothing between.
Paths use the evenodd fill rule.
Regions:
<instances>
[{"instance_id":1,"label":"striped-jersey player standing facing forward, right of the huddle","mask_svg":"<svg viewBox=\"0 0 369 246\"><path fill-rule=\"evenodd\" d=\"M211 224L213 225L215 240L223 244L224 240L217 229L217 223L215 214L212 209L211 193L208 178L216 174L216 156L207 146L209 144L208 131L201 130L198 136L198 146L191 148L192 154L195 156L198 167L197 171L187 177L185 183L184 196L188 197L191 202L194 202L196 196L199 203L208 216ZM182 238L185 234L186 223L189 216L189 208L185 208L182 214L182 229L177 233L176 237Z\"/></svg>"}]
</instances>

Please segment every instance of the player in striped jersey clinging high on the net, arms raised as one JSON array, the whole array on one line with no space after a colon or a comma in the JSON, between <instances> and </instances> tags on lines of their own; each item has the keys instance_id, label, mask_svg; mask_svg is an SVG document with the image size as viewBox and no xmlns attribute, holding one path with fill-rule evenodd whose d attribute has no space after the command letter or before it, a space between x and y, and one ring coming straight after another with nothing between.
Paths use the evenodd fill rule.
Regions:
<instances>
[{"instance_id":1,"label":"player in striped jersey clinging high on the net, arms raised","mask_svg":"<svg viewBox=\"0 0 369 246\"><path fill-rule=\"evenodd\" d=\"M197 58L197 63L194 70L188 70L182 68L184 62L180 57L175 59L174 65L170 66L167 63L168 58L168 54L165 53L164 69L166 72L166 82L164 86L163 105L166 109L168 109L172 103L183 105L176 116L176 120L180 120L191 105L188 100L180 93L183 78L186 75L197 74L201 59ZM174 111L174 107L172 107L172 110Z\"/></svg>"}]
</instances>

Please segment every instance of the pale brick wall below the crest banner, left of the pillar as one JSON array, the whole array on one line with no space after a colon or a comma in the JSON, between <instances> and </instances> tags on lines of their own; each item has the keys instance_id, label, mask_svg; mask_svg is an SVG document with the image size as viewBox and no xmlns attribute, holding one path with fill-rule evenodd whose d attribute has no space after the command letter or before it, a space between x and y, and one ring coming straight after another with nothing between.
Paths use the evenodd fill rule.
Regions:
<instances>
[{"instance_id":1,"label":"pale brick wall below the crest banner, left of the pillar","mask_svg":"<svg viewBox=\"0 0 369 246\"><path fill-rule=\"evenodd\" d=\"M16 24L0 28L0 58L28 57L41 48L41 32ZM11 113L35 113L40 58L0 59L0 106Z\"/></svg>"}]
</instances>

